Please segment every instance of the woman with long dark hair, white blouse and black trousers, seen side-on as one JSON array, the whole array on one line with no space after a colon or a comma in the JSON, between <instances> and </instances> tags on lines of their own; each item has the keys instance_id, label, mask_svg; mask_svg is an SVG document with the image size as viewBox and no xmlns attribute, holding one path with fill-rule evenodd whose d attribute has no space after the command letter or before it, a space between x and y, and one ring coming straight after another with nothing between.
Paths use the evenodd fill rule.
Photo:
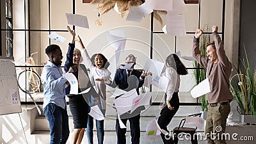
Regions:
<instances>
[{"instance_id":1,"label":"woman with long dark hair, white blouse and black trousers, seen side-on","mask_svg":"<svg viewBox=\"0 0 256 144\"><path fill-rule=\"evenodd\" d=\"M177 113L180 106L178 95L180 87L180 75L188 74L188 70L176 54L170 54L166 58L165 65L165 76L168 77L170 81L164 95L164 102L166 102L166 105L161 110L158 118L158 124L161 129L168 132L167 125L170 124L173 116L175 113ZM163 133L161 133L161 138L164 144L173 143L172 138L166 137Z\"/></svg>"}]
</instances>

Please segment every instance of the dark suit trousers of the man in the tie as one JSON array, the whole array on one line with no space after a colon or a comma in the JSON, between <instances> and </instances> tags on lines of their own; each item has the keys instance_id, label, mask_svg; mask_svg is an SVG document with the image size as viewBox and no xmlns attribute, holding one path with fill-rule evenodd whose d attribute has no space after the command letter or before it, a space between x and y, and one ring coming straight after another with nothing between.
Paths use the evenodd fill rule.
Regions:
<instances>
[{"instance_id":1,"label":"dark suit trousers of the man in the tie","mask_svg":"<svg viewBox=\"0 0 256 144\"><path fill-rule=\"evenodd\" d=\"M124 125L126 125L127 120L129 120L132 144L139 144L140 143L140 115L136 115L131 118L124 118L121 120L124 123ZM118 144L126 143L125 133L126 133L126 129L120 128L118 118L116 118L116 135L117 135Z\"/></svg>"}]
</instances>

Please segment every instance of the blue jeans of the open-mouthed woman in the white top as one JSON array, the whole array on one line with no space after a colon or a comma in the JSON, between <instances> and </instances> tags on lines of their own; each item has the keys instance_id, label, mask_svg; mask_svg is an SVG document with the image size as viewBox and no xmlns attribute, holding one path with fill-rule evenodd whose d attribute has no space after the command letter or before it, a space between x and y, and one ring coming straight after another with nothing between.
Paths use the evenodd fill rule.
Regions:
<instances>
[{"instance_id":1,"label":"blue jeans of the open-mouthed woman in the white top","mask_svg":"<svg viewBox=\"0 0 256 144\"><path fill-rule=\"evenodd\" d=\"M98 143L103 144L104 140L104 120L96 120ZM86 135L89 144L93 143L93 117L88 115Z\"/></svg>"}]
</instances>

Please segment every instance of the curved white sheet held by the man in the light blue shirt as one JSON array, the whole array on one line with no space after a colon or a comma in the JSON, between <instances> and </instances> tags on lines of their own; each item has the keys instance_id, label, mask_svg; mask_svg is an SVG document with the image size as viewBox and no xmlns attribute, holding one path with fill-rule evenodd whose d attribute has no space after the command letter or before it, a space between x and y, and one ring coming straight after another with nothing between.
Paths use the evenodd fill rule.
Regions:
<instances>
[{"instance_id":1,"label":"curved white sheet held by the man in the light blue shirt","mask_svg":"<svg viewBox=\"0 0 256 144\"><path fill-rule=\"evenodd\" d=\"M77 94L78 93L78 81L76 79L76 76L72 73L65 73L63 74L65 79L68 80L68 83L70 84L70 94Z\"/></svg>"}]
</instances>

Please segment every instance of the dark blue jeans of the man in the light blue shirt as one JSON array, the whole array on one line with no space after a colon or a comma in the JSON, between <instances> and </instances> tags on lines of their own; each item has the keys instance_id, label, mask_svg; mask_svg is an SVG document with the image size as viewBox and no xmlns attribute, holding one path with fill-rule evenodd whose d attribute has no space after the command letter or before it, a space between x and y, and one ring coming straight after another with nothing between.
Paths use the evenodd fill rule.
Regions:
<instances>
[{"instance_id":1,"label":"dark blue jeans of the man in the light blue shirt","mask_svg":"<svg viewBox=\"0 0 256 144\"><path fill-rule=\"evenodd\" d=\"M44 115L49 122L51 144L66 143L69 136L67 107L65 109L49 103L44 108Z\"/></svg>"}]
</instances>

